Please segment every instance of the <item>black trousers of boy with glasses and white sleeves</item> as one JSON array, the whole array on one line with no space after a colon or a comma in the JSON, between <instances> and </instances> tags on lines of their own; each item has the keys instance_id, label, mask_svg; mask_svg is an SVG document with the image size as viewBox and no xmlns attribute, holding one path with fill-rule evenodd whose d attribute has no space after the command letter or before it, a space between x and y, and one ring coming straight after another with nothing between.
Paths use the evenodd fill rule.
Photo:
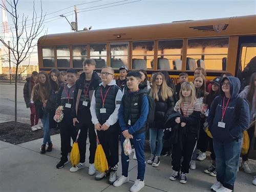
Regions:
<instances>
[{"instance_id":1,"label":"black trousers of boy with glasses and white sleeves","mask_svg":"<svg viewBox=\"0 0 256 192\"><path fill-rule=\"evenodd\" d=\"M119 125L116 123L106 131L97 131L98 139L103 147L109 167L114 167L119 161Z\"/></svg>"}]
</instances>

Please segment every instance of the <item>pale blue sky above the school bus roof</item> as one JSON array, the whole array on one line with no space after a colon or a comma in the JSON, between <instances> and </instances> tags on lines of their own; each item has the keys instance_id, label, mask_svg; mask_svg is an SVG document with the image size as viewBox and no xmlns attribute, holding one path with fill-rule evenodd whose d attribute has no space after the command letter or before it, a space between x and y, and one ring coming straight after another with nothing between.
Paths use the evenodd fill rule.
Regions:
<instances>
[{"instance_id":1,"label":"pale blue sky above the school bus roof","mask_svg":"<svg viewBox=\"0 0 256 192\"><path fill-rule=\"evenodd\" d=\"M2 0L0 0L2 3ZM121 5L123 4L123 5ZM256 0L253 1L153 1L153 0L88 0L57 1L42 0L42 12L46 14L44 30L38 36L53 33L72 32L69 22L75 22L74 5L78 9L78 30L84 27L92 30L139 26L160 23L171 23L177 20L200 20L256 14ZM19 0L18 13L32 18L33 1ZM40 14L40 1L35 0L35 10ZM2 11L2 10L1 10ZM2 17L2 14L1 14ZM1 18L2 22L2 18ZM13 27L11 17L8 23ZM31 20L28 20L31 24ZM3 27L1 25L0 35Z\"/></svg>"}]
</instances>

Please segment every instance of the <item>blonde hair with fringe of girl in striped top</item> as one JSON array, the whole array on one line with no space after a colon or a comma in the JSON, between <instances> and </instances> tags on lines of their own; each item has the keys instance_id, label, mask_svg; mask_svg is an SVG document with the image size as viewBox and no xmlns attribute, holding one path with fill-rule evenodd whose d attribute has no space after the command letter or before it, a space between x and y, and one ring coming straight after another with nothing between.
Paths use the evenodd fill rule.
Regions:
<instances>
[{"instance_id":1,"label":"blonde hair with fringe of girl in striped top","mask_svg":"<svg viewBox=\"0 0 256 192\"><path fill-rule=\"evenodd\" d=\"M191 90L191 95L190 95L190 98L189 98L190 103L189 103L188 106L192 107L194 105L194 103L196 102L196 100L197 100L196 88L195 88L194 84L191 83L191 82L183 82L181 84L180 94L179 94L180 95L180 99L177 101L179 106L180 106L180 108L181 108L181 103L183 103L185 101L185 97L182 95L182 90L186 90L186 91Z\"/></svg>"}]
</instances>

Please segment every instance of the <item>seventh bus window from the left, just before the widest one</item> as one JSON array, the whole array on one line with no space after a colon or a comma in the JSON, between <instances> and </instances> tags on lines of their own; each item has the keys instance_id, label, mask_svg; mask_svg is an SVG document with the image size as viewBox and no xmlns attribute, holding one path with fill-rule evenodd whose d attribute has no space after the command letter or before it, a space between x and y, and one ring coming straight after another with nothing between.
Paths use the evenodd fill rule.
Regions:
<instances>
[{"instance_id":1,"label":"seventh bus window from the left, just before the widest one","mask_svg":"<svg viewBox=\"0 0 256 192\"><path fill-rule=\"evenodd\" d=\"M183 40L158 41L158 70L181 70Z\"/></svg>"}]
</instances>

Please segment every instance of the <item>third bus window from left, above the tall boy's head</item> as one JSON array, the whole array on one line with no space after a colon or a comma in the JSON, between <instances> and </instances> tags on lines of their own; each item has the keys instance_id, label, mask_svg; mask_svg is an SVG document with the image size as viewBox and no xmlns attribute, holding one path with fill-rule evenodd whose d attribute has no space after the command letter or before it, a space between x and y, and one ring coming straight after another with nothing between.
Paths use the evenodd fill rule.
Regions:
<instances>
[{"instance_id":1,"label":"third bus window from left, above the tall boy's head","mask_svg":"<svg viewBox=\"0 0 256 192\"><path fill-rule=\"evenodd\" d=\"M82 62L87 58L87 45L73 46L73 68L82 68Z\"/></svg>"}]
</instances>

